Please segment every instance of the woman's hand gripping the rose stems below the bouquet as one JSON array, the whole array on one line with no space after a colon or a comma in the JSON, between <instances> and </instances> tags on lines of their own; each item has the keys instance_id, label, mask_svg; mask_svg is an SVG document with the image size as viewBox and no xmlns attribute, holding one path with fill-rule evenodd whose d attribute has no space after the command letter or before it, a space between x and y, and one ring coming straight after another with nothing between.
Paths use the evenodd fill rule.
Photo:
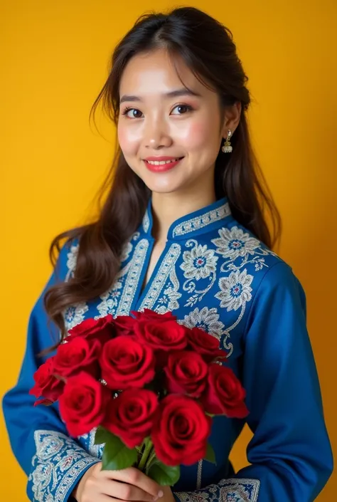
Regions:
<instances>
[{"instance_id":1,"label":"woman's hand gripping the rose stems below the bouquet","mask_svg":"<svg viewBox=\"0 0 337 502\"><path fill-rule=\"evenodd\" d=\"M73 491L77 502L155 502L164 496L163 487L135 467L121 471L101 469L102 462L98 462L85 472Z\"/></svg>"}]
</instances>

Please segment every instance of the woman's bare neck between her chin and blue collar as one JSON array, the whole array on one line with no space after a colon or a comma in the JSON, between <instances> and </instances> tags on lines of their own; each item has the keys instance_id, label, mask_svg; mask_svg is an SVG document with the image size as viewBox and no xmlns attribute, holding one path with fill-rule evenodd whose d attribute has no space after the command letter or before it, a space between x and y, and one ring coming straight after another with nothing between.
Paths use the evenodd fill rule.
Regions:
<instances>
[{"instance_id":1,"label":"woman's bare neck between her chin and blue collar","mask_svg":"<svg viewBox=\"0 0 337 502\"><path fill-rule=\"evenodd\" d=\"M176 221L186 214L198 211L216 201L215 191L196 194L159 194L152 192L152 214L154 226L152 234L157 243L165 244L166 237L173 221Z\"/></svg>"}]
</instances>

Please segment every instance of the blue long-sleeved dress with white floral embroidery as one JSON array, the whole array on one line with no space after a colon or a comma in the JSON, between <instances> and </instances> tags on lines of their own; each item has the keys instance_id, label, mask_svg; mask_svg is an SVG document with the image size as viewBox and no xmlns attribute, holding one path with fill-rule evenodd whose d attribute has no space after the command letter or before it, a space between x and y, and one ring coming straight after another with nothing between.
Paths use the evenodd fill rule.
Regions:
<instances>
[{"instance_id":1,"label":"blue long-sleeved dress with white floral embroidery","mask_svg":"<svg viewBox=\"0 0 337 502\"><path fill-rule=\"evenodd\" d=\"M245 420L215 417L210 443L217 465L182 466L173 486L183 502L314 501L333 469L321 393L306 330L306 298L291 268L233 219L220 199L175 221L144 291L154 239L151 201L138 231L124 248L116 281L100 298L64 312L68 329L85 318L127 315L151 308L172 311L186 326L220 340L227 364L247 391L254 433L250 466L236 474L228 460ZM78 244L66 244L46 288L68 281ZM102 455L94 432L75 441L57 404L33 407L36 354L51 345L41 294L28 324L26 354L16 386L3 407L11 446L28 475L31 501L71 501L75 484ZM52 325L57 334L55 325Z\"/></svg>"}]
</instances>

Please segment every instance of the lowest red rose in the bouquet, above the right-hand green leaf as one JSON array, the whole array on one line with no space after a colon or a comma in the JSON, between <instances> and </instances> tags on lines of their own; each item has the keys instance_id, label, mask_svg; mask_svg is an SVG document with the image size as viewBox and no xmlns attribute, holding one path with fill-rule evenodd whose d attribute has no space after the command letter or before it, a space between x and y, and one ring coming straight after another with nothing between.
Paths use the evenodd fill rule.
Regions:
<instances>
[{"instance_id":1,"label":"lowest red rose in the bouquet, above the right-hand green leaf","mask_svg":"<svg viewBox=\"0 0 337 502\"><path fill-rule=\"evenodd\" d=\"M191 397L164 397L151 434L157 458L168 466L190 466L203 459L211 424L210 417Z\"/></svg>"}]
</instances>

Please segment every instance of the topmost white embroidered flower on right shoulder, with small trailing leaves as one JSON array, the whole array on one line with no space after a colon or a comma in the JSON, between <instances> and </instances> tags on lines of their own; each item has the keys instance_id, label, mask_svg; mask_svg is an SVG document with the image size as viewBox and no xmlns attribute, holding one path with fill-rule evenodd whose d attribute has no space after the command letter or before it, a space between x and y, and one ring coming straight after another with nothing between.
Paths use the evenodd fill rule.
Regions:
<instances>
[{"instance_id":1,"label":"topmost white embroidered flower on right shoulder, with small trailing leaves","mask_svg":"<svg viewBox=\"0 0 337 502\"><path fill-rule=\"evenodd\" d=\"M218 234L220 237L212 239L211 242L216 246L216 253L228 258L220 268L222 272L237 271L247 263L254 263L255 271L259 271L264 266L267 267L261 256L277 256L274 251L264 247L260 241L237 226L233 226L232 229L219 229ZM251 256L254 257L250 259ZM232 263L237 258L242 258L242 261L238 264Z\"/></svg>"}]
</instances>

